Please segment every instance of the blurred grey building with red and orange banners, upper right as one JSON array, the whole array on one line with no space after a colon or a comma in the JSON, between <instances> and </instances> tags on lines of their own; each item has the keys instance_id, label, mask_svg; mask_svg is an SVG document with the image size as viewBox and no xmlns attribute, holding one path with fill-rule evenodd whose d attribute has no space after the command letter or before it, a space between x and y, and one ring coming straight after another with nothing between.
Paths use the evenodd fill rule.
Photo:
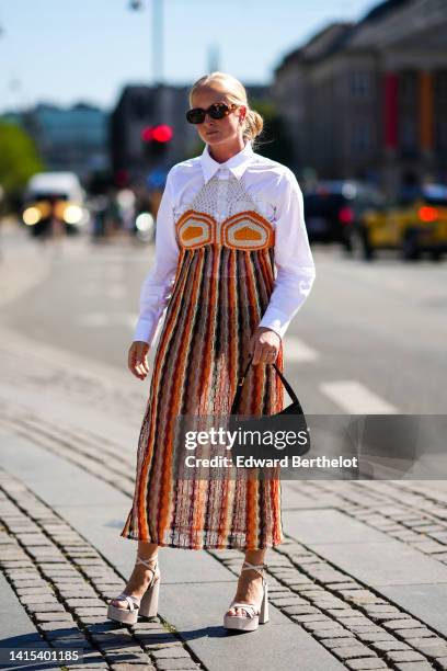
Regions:
<instances>
[{"instance_id":1,"label":"blurred grey building with red and orange banners, upper right","mask_svg":"<svg viewBox=\"0 0 447 671\"><path fill-rule=\"evenodd\" d=\"M299 173L390 194L447 182L447 2L388 0L328 26L275 70L274 98Z\"/></svg>"}]
</instances>

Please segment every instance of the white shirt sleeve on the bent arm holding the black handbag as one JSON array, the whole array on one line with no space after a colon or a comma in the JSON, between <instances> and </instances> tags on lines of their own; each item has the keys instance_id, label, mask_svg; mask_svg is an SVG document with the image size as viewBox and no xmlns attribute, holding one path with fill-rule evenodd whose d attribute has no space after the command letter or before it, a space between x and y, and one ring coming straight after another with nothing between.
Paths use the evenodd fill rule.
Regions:
<instances>
[{"instance_id":1,"label":"white shirt sleeve on the bent arm holding the black handbag","mask_svg":"<svg viewBox=\"0 0 447 671\"><path fill-rule=\"evenodd\" d=\"M316 277L301 190L291 171L287 170L283 180L275 231L277 274L271 300L259 325L274 330L282 339L309 296Z\"/></svg>"}]
</instances>

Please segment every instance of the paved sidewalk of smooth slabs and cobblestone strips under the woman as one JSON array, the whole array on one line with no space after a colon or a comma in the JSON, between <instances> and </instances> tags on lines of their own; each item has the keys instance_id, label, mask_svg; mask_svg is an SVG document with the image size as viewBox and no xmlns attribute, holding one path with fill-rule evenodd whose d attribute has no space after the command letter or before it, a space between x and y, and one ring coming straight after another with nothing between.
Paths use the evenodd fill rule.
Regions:
<instances>
[{"instance_id":1,"label":"paved sidewalk of smooth slabs and cobblestone strips under the woman","mask_svg":"<svg viewBox=\"0 0 447 671\"><path fill-rule=\"evenodd\" d=\"M256 633L221 626L238 550L162 548L160 615L108 622L135 560L119 531L147 389L5 328L0 342L2 646L82 648L82 667L53 667L67 669L447 669L439 482L284 482Z\"/></svg>"}]
</instances>

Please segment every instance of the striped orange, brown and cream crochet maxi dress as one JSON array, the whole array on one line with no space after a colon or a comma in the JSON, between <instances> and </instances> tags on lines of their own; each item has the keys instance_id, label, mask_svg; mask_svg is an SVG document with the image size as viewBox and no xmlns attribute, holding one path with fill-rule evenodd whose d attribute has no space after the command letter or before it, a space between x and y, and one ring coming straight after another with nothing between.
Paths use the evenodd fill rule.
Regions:
<instances>
[{"instance_id":1,"label":"striped orange, brown and cream crochet maxi dress","mask_svg":"<svg viewBox=\"0 0 447 671\"><path fill-rule=\"evenodd\" d=\"M184 549L241 550L284 543L279 477L179 478L179 416L225 416L249 361L249 343L274 286L274 224L230 173L227 217L219 177L175 221L179 261L154 356L138 442L135 494L124 538ZM283 344L276 365L283 372ZM272 365L252 364L238 414L279 412L284 387ZM238 469L240 470L240 469Z\"/></svg>"}]
</instances>

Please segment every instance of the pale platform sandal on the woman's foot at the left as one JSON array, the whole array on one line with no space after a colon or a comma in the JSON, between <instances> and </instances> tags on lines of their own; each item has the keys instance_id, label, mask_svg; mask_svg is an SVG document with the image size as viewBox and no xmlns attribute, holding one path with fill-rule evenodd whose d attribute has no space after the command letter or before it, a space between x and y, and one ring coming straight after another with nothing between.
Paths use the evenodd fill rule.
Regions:
<instances>
[{"instance_id":1,"label":"pale platform sandal on the woman's foot at the left","mask_svg":"<svg viewBox=\"0 0 447 671\"><path fill-rule=\"evenodd\" d=\"M158 555L153 557L157 559ZM115 596L108 603L107 609L107 617L110 619L114 619L116 622L121 622L124 624L135 624L138 621L138 615L144 615L145 617L154 617L158 612L158 601L159 601L159 590L160 590L160 568L158 561L156 561L154 566L149 565L149 560L144 559L142 557L137 557L136 566L138 564L144 564L148 569L152 571L152 579L141 596L130 596L125 592L122 592L119 596ZM112 601L127 601L128 606L122 609L119 606L115 606L112 604Z\"/></svg>"}]
</instances>

